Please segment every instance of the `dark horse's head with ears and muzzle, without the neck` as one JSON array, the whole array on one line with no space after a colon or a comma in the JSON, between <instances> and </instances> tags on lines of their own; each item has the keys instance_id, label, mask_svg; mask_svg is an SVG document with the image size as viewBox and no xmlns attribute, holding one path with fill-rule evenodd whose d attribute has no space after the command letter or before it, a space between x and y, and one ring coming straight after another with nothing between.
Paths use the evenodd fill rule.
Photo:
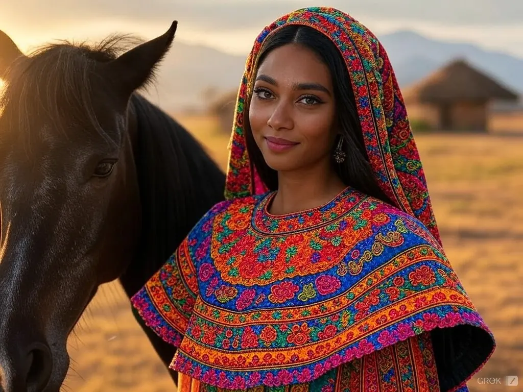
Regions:
<instances>
[{"instance_id":1,"label":"dark horse's head with ears and muzzle, without the neck","mask_svg":"<svg viewBox=\"0 0 523 392\"><path fill-rule=\"evenodd\" d=\"M23 54L0 31L0 381L58 390L67 337L97 287L139 243L134 91L149 83L177 23L115 55L69 42Z\"/></svg>"}]
</instances>

